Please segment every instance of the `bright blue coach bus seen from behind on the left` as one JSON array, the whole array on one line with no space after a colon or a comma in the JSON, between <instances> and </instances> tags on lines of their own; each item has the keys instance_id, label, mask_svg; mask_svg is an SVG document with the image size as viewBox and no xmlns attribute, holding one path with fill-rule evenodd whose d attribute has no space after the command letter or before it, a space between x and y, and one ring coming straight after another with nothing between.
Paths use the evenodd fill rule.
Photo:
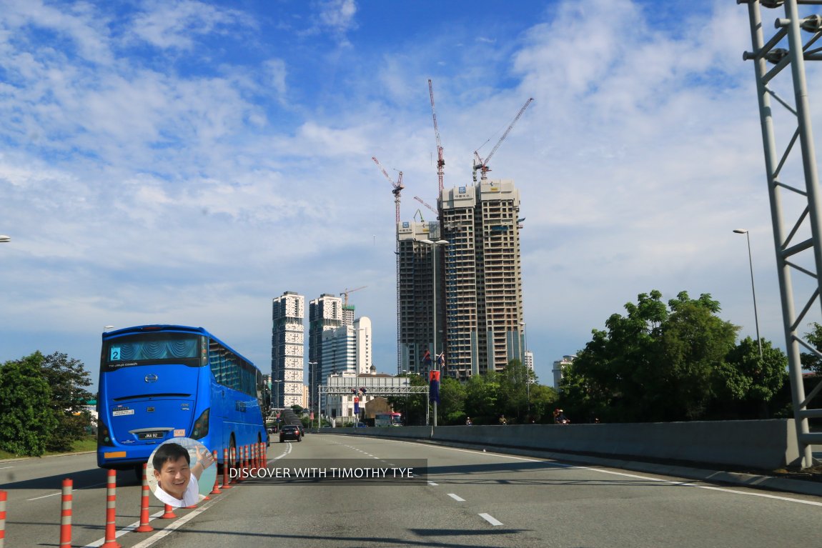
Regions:
<instances>
[{"instance_id":1,"label":"bright blue coach bus seen from behind on the left","mask_svg":"<svg viewBox=\"0 0 822 548\"><path fill-rule=\"evenodd\" d=\"M176 437L217 451L268 442L260 370L201 327L140 325L103 334L97 465L142 473Z\"/></svg>"}]
</instances>

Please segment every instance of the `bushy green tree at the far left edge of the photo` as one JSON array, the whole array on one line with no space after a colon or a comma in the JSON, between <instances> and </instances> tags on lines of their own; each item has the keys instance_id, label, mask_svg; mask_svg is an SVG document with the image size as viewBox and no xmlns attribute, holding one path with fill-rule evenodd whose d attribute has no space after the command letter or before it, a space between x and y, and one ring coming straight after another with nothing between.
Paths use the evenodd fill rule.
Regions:
<instances>
[{"instance_id":1,"label":"bushy green tree at the far left edge of the photo","mask_svg":"<svg viewBox=\"0 0 822 548\"><path fill-rule=\"evenodd\" d=\"M39 457L57 426L39 352L0 368L0 449Z\"/></svg>"}]
</instances>

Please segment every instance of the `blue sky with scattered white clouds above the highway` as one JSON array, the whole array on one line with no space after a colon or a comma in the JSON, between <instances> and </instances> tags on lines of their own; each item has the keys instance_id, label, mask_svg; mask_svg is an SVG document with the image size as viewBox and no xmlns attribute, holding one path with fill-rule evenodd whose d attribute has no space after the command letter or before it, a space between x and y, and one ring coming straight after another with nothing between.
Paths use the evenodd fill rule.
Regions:
<instances>
[{"instance_id":1,"label":"blue sky with scattered white clouds above the highway","mask_svg":"<svg viewBox=\"0 0 822 548\"><path fill-rule=\"evenodd\" d=\"M364 286L349 302L394 373L395 205L372 156L404 173L401 219L432 220L428 79L446 188L533 98L488 177L520 190L543 384L654 289L710 293L755 336L735 228L784 348L746 7L658 6L5 0L0 361L65 352L96 382L104 326L182 324L269 372L272 298Z\"/></svg>"}]
</instances>

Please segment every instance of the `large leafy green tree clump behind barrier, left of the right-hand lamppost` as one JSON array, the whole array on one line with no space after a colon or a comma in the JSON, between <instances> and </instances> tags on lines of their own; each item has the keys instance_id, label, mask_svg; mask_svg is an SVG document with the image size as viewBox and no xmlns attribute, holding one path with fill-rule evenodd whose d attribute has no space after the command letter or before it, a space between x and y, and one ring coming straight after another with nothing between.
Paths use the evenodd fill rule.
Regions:
<instances>
[{"instance_id":1,"label":"large leafy green tree clump behind barrier, left of the right-hand lamppost","mask_svg":"<svg viewBox=\"0 0 822 548\"><path fill-rule=\"evenodd\" d=\"M665 306L654 290L625 308L626 316L608 318L607 331L593 331L566 368L566 414L603 421L705 417L737 326L718 318L719 303L708 294L691 299L680 292Z\"/></svg>"}]
</instances>

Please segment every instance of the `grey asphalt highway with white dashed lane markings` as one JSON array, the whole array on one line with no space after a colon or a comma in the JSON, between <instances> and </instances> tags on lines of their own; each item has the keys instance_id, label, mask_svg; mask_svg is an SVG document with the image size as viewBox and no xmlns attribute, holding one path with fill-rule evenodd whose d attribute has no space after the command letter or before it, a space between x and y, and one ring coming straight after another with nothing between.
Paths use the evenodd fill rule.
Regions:
<instances>
[{"instance_id":1,"label":"grey asphalt highway with white dashed lane markings","mask_svg":"<svg viewBox=\"0 0 822 548\"><path fill-rule=\"evenodd\" d=\"M85 458L85 460L84 460ZM73 546L102 539L104 475L94 455L22 461L42 466L59 485L72 468L90 486L76 497L82 518ZM717 486L676 477L581 467L431 444L307 435L300 443L271 444L269 468L305 467L306 459L363 468L390 468L409 459L427 460L427 477L343 485L327 479L256 479L216 495L178 520L152 521L164 532L130 532L125 548L208 548L211 546L819 546L822 499ZM333 460L332 460L333 459ZM0 463L0 468L9 463ZM54 469L60 468L55 474ZM65 471L63 470L65 469ZM36 473L37 468L26 474ZM0 474L6 470L0 469ZM124 477L127 474L122 474ZM0 476L2 478L2 476ZM128 478L131 481L131 478ZM59 496L45 480L15 481L8 490L7 548L57 546ZM57 488L53 488L56 491ZM118 489L118 527L135 523L139 487ZM46 516L40 507L48 500ZM118 497L118 502L121 500ZM159 510L154 504L152 512ZM88 509L81 509L88 505ZM22 516L31 518L22 518ZM162 522L162 523L161 523ZM159 523L159 525L158 525ZM95 536L96 534L96 536ZM25 539L25 541L24 541ZM92 545L93 546L93 545ZM99 546L99 545L97 545Z\"/></svg>"}]
</instances>

